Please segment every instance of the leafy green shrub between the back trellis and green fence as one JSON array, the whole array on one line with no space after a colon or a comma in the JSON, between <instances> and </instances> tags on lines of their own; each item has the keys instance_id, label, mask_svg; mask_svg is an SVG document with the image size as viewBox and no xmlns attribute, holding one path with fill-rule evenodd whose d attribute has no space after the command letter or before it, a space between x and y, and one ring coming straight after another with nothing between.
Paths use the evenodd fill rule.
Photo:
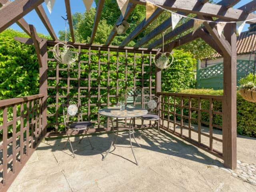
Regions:
<instances>
[{"instance_id":1,"label":"leafy green shrub between the back trellis and green fence","mask_svg":"<svg viewBox=\"0 0 256 192\"><path fill-rule=\"evenodd\" d=\"M182 89L194 87L193 69L196 59L184 50L175 50L173 56L172 65L162 70L162 91L179 92Z\"/></svg>"}]
</instances>

